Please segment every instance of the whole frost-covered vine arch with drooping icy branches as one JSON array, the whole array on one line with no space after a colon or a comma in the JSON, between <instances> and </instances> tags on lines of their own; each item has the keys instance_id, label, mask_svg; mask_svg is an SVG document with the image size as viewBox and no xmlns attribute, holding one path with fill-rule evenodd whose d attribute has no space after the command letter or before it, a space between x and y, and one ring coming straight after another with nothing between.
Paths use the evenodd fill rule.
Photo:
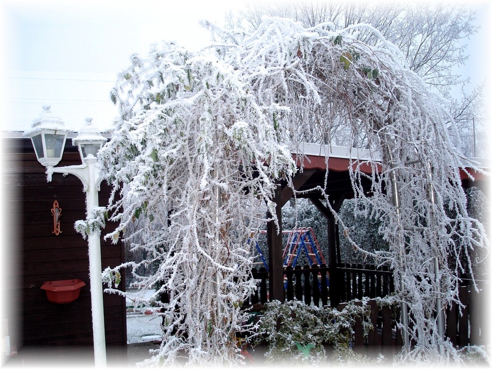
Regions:
<instances>
[{"instance_id":1,"label":"whole frost-covered vine arch with drooping icy branches","mask_svg":"<svg viewBox=\"0 0 492 369\"><path fill-rule=\"evenodd\" d=\"M253 33L210 28L217 43L201 53L165 44L132 58L112 92L121 121L100 154L120 224L110 237L138 235L133 247L157 267L135 285L169 295L159 303L163 343L154 360L239 360L233 336L254 288L246 240L266 220L259 205L275 214L276 181L295 173L290 152L302 158L306 140L329 144L334 125L383 154L369 161L373 196L359 185L361 162L350 174L357 208L381 219L390 244L373 256L394 270L411 310L406 333L417 344L405 358L457 359L438 335L436 302L458 302L458 276L486 240L466 213L439 97L367 25L333 31L269 18ZM373 33L370 44L359 31ZM117 279L117 270L105 278Z\"/></svg>"}]
</instances>

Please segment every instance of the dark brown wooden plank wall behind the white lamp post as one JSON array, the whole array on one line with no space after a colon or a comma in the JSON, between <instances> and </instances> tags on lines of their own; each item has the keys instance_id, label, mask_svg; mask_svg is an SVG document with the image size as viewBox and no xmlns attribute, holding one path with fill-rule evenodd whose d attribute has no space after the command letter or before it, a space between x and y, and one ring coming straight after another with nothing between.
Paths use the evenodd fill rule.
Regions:
<instances>
[{"instance_id":1,"label":"dark brown wooden plank wall behind the white lamp post","mask_svg":"<svg viewBox=\"0 0 492 369\"><path fill-rule=\"evenodd\" d=\"M28 139L4 139L7 160L4 162L4 188L8 194L6 211L12 215L12 232L4 248L5 279L14 316L9 319L12 344L23 346L92 346L92 314L89 280L88 243L74 229L76 220L84 219L85 193L73 175L53 174L46 181L45 168L36 160ZM59 166L80 164L80 157L70 140ZM99 205L108 202L110 188L101 184ZM53 232L51 209L58 201L61 231ZM102 234L114 225L107 224ZM102 268L124 262L121 243L113 245L101 237ZM57 305L47 300L40 289L44 281L80 279L86 283L79 298ZM121 284L124 288L124 281ZM122 297L104 293L106 343L109 352L126 351L126 311ZM121 348L121 350L115 348Z\"/></svg>"}]
</instances>

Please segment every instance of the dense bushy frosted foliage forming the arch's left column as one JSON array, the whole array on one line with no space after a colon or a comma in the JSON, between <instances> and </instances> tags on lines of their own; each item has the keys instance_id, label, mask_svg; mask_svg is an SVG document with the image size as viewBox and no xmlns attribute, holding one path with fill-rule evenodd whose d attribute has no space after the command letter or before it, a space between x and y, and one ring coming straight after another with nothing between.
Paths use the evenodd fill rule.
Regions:
<instances>
[{"instance_id":1,"label":"dense bushy frosted foliage forming the arch's left column","mask_svg":"<svg viewBox=\"0 0 492 369\"><path fill-rule=\"evenodd\" d=\"M246 240L265 221L259 202L275 213L275 180L295 170L272 124L277 107L258 104L241 74L168 44L134 56L114 91L122 122L100 154L122 190L112 236L139 235L134 247L152 255L142 263L158 264L133 283L169 295L157 362L183 352L190 364L239 359L234 332L254 286Z\"/></svg>"}]
</instances>

